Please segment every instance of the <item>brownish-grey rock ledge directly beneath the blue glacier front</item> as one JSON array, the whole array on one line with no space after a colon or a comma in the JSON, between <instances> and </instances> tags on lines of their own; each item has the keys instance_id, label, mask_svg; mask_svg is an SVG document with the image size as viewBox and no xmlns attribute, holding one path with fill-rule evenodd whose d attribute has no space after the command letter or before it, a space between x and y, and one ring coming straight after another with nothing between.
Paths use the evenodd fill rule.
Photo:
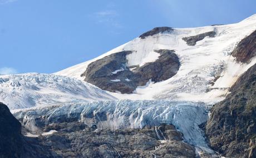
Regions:
<instances>
[{"instance_id":1,"label":"brownish-grey rock ledge directly beneath the blue glacier front","mask_svg":"<svg viewBox=\"0 0 256 158\"><path fill-rule=\"evenodd\" d=\"M41 148L55 152L53 157L195 157L194 147L182 142L183 135L173 125L114 131L86 126L66 131L70 125L45 126L45 131L58 132L38 136Z\"/></svg>"}]
</instances>

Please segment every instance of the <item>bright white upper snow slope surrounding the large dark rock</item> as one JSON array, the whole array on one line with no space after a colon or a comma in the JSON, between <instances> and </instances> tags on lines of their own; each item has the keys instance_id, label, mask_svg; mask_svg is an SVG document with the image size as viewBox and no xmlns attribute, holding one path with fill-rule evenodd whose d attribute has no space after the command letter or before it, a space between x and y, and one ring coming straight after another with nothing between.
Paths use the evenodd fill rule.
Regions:
<instances>
[{"instance_id":1,"label":"bright white upper snow slope surrounding the large dark rock","mask_svg":"<svg viewBox=\"0 0 256 158\"><path fill-rule=\"evenodd\" d=\"M206 26L198 28L174 28L172 32L158 33L144 39L135 38L124 45L111 50L93 60L57 72L58 75L84 78L80 75L87 66L100 58L120 51L133 51L127 58L127 65L142 66L146 62L154 62L159 55L154 50L175 50L181 66L178 73L169 80L137 87L136 93L111 93L117 98L131 100L141 99L176 99L189 101L218 102L228 93L228 88L237 78L252 66L252 62L237 63L230 53L246 36L256 30L256 14L242 22L221 26ZM215 37L205 37L189 46L182 39L201 33L214 31ZM211 81L216 76L220 78L212 86Z\"/></svg>"}]
</instances>

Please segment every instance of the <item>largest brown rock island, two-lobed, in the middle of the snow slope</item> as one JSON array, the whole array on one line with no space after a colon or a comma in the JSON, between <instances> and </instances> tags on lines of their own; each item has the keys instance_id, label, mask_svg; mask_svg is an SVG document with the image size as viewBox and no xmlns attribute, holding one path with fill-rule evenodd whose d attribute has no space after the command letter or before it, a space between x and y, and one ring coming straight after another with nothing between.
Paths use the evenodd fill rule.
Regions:
<instances>
[{"instance_id":1,"label":"largest brown rock island, two-lobed, in the middle of the snow slope","mask_svg":"<svg viewBox=\"0 0 256 158\"><path fill-rule=\"evenodd\" d=\"M81 75L85 81L102 90L132 93L137 86L146 85L149 80L159 82L173 77L179 70L180 62L173 50L157 50L160 57L155 62L139 67L127 67L126 55L132 51L122 51L90 63Z\"/></svg>"}]
</instances>

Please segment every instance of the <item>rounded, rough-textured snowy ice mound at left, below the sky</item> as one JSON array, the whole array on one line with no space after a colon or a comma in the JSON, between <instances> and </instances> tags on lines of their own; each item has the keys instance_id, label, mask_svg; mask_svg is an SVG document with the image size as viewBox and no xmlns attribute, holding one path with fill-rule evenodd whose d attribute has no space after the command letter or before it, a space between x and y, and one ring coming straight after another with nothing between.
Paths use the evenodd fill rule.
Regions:
<instances>
[{"instance_id":1,"label":"rounded, rough-textured snowy ice mound at left, below the sky","mask_svg":"<svg viewBox=\"0 0 256 158\"><path fill-rule=\"evenodd\" d=\"M40 73L0 76L0 102L11 109L114 99L100 88L76 78Z\"/></svg>"}]
</instances>

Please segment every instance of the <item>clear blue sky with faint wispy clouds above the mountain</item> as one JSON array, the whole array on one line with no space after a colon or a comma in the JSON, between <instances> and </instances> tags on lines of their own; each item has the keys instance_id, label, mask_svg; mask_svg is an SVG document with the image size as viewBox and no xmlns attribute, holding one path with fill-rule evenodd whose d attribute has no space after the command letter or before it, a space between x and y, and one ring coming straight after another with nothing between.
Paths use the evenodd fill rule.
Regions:
<instances>
[{"instance_id":1,"label":"clear blue sky with faint wispy clouds above the mountain","mask_svg":"<svg viewBox=\"0 0 256 158\"><path fill-rule=\"evenodd\" d=\"M0 0L0 74L53 73L154 27L229 24L255 0Z\"/></svg>"}]
</instances>

